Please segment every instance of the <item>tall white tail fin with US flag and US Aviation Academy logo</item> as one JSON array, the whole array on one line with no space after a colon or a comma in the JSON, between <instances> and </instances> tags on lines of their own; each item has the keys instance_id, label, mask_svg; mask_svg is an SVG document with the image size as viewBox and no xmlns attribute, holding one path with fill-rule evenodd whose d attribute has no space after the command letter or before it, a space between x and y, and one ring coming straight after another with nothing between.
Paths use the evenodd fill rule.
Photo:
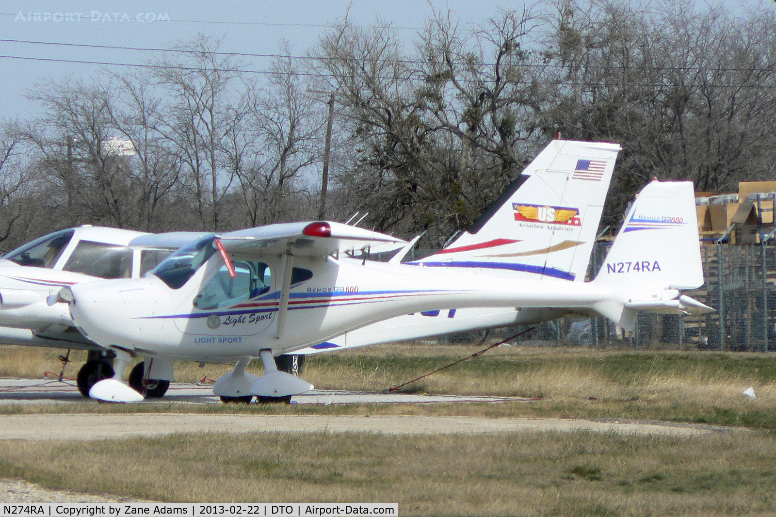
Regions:
<instances>
[{"instance_id":1,"label":"tall white tail fin with US flag and US Aviation Academy logo","mask_svg":"<svg viewBox=\"0 0 776 517\"><path fill-rule=\"evenodd\" d=\"M584 281L620 150L604 142L550 142L479 220L414 263Z\"/></svg>"}]
</instances>

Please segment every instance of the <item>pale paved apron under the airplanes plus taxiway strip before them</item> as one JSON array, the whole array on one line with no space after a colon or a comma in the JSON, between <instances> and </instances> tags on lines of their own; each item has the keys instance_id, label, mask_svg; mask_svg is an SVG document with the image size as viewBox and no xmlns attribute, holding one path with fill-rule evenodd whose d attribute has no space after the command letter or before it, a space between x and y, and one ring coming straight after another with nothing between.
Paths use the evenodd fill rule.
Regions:
<instances>
[{"instance_id":1,"label":"pale paved apron under the airplanes plus taxiway strip before them","mask_svg":"<svg viewBox=\"0 0 776 517\"><path fill-rule=\"evenodd\" d=\"M0 404L84 402L71 383L57 380L0 379ZM388 404L443 402L506 403L519 397L382 394L315 390L293 398L296 404ZM163 399L139 404L221 404L209 386L172 385ZM96 401L93 402L97 404ZM712 425L587 421L566 418L477 418L420 415L210 415L197 413L0 415L0 439L103 439L158 436L175 432L378 432L392 435L479 434L556 431L620 432L634 435L705 435L734 429Z\"/></svg>"}]
</instances>

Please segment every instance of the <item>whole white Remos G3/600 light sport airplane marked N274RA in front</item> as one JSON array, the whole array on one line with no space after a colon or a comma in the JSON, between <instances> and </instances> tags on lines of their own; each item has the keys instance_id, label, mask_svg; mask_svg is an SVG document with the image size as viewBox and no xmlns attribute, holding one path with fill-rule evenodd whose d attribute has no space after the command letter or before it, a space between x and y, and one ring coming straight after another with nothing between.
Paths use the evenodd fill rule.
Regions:
<instances>
[{"instance_id":1,"label":"whole white Remos G3/600 light sport airplane marked N274RA in front","mask_svg":"<svg viewBox=\"0 0 776 517\"><path fill-rule=\"evenodd\" d=\"M505 229L506 230L506 229ZM345 252L399 239L327 221L272 224L192 242L140 279L64 287L82 334L116 352L116 372L89 396L140 401L121 382L133 357L236 363L213 393L225 401L289 400L312 386L280 372L294 352L402 314L465 307L549 307L601 314L632 330L640 310L713 311L681 289L703 283L691 182L651 182L633 203L598 276L587 283L512 279L459 267L367 262ZM664 245L663 245L664 244ZM245 372L260 357L265 373ZM159 369L161 370L161 368ZM171 376L171 371L167 373ZM154 375L154 378L165 379Z\"/></svg>"}]
</instances>

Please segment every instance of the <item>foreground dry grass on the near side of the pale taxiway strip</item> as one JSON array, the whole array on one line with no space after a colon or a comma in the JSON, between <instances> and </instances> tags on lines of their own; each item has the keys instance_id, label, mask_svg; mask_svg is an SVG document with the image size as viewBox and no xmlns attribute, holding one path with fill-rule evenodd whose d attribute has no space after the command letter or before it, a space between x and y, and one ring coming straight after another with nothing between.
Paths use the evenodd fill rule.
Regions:
<instances>
[{"instance_id":1,"label":"foreground dry grass on the near side of the pale taxiway strip","mask_svg":"<svg viewBox=\"0 0 776 517\"><path fill-rule=\"evenodd\" d=\"M776 440L523 432L2 442L0 476L161 501L398 502L400 515L773 515Z\"/></svg>"}]
</instances>

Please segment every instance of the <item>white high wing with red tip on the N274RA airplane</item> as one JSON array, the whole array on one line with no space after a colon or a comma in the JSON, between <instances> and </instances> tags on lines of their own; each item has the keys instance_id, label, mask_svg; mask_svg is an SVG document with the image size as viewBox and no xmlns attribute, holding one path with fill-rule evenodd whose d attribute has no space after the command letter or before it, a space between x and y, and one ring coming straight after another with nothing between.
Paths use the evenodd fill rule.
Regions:
<instances>
[{"instance_id":1,"label":"white high wing with red tip on the N274RA airplane","mask_svg":"<svg viewBox=\"0 0 776 517\"><path fill-rule=\"evenodd\" d=\"M221 234L220 241L228 252L281 255L289 249L296 256L390 252L407 244L400 238L331 221L268 224Z\"/></svg>"}]
</instances>

